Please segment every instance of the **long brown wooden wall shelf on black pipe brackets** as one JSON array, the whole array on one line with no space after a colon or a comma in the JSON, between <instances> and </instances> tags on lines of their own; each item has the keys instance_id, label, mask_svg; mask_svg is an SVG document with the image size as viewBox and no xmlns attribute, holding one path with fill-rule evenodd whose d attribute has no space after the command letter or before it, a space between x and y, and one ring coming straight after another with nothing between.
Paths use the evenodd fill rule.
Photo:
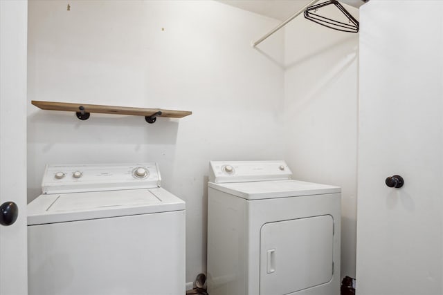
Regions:
<instances>
[{"instance_id":1,"label":"long brown wooden wall shelf on black pipe brackets","mask_svg":"<svg viewBox=\"0 0 443 295\"><path fill-rule=\"evenodd\" d=\"M131 108L127 106L100 106L97 104L74 104L69 102L31 101L42 110L75 112L80 120L87 120L89 113L144 116L146 121L154 123L156 117L181 118L191 115L190 111L163 110L161 108ZM86 114L86 115L85 115ZM153 122L150 122L152 120Z\"/></svg>"}]
</instances>

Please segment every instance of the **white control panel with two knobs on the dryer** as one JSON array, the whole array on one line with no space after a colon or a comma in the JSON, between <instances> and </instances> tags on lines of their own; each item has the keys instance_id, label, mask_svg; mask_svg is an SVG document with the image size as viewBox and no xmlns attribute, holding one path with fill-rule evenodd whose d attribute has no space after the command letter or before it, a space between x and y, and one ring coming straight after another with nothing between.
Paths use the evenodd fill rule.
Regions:
<instances>
[{"instance_id":1,"label":"white control panel with two knobs on the dryer","mask_svg":"<svg viewBox=\"0 0 443 295\"><path fill-rule=\"evenodd\" d=\"M284 161L209 162L209 181L215 183L287 180L291 175Z\"/></svg>"}]
</instances>

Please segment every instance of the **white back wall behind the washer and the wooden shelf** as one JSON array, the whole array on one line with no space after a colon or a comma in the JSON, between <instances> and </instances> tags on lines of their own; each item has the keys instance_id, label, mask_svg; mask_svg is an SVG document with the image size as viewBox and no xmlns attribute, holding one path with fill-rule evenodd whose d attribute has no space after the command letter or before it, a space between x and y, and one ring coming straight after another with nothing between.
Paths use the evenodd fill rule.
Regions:
<instances>
[{"instance_id":1,"label":"white back wall behind the washer and the wooden shelf","mask_svg":"<svg viewBox=\"0 0 443 295\"><path fill-rule=\"evenodd\" d=\"M28 200L46 163L158 162L186 201L186 280L206 272L208 161L283 158L284 36L251 48L277 23L215 1L30 1L29 101L193 114L80 121L29 103Z\"/></svg>"}]
</instances>

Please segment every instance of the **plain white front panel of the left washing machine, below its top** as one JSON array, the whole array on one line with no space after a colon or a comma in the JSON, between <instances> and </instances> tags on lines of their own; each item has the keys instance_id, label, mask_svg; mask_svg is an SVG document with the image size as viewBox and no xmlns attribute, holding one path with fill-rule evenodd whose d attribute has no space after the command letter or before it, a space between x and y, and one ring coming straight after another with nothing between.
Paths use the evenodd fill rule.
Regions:
<instances>
[{"instance_id":1,"label":"plain white front panel of the left washing machine, below its top","mask_svg":"<svg viewBox=\"0 0 443 295\"><path fill-rule=\"evenodd\" d=\"M185 215L28 227L29 295L185 294Z\"/></svg>"}]
</instances>

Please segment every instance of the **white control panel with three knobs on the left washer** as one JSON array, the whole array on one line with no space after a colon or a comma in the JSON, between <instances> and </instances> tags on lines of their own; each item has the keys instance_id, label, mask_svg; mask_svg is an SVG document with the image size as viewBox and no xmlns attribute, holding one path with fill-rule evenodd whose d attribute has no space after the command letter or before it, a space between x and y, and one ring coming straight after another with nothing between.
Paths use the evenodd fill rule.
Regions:
<instances>
[{"instance_id":1,"label":"white control panel with three knobs on the left washer","mask_svg":"<svg viewBox=\"0 0 443 295\"><path fill-rule=\"evenodd\" d=\"M78 193L160 187L156 163L46 165L43 193Z\"/></svg>"}]
</instances>

